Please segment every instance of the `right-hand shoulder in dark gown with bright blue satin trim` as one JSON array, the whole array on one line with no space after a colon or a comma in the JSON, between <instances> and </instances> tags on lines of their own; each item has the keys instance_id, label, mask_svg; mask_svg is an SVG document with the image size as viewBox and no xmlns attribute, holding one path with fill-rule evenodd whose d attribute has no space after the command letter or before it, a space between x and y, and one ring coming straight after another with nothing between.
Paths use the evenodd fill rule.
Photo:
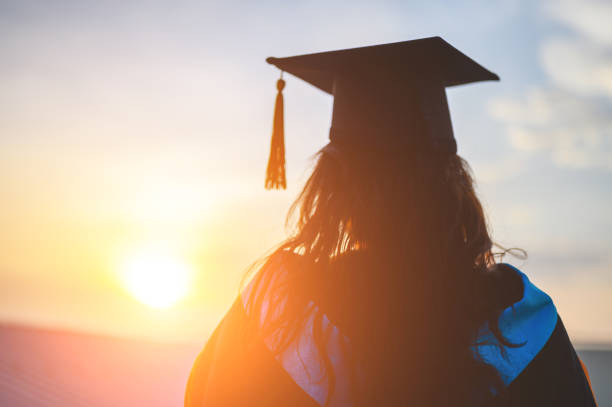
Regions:
<instances>
[{"instance_id":1,"label":"right-hand shoulder in dark gown with bright blue satin trim","mask_svg":"<svg viewBox=\"0 0 612 407\"><path fill-rule=\"evenodd\" d=\"M503 310L498 320L500 333L514 345L500 344L484 326L475 347L506 385L499 404L595 407L585 367L552 299L515 267L505 268L523 285L520 300Z\"/></svg>"}]
</instances>

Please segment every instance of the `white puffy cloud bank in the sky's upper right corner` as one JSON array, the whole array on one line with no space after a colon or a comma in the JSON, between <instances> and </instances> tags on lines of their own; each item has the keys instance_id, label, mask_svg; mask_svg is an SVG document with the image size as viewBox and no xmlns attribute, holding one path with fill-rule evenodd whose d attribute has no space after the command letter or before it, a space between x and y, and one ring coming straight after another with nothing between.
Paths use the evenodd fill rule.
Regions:
<instances>
[{"instance_id":1,"label":"white puffy cloud bank in the sky's upper right corner","mask_svg":"<svg viewBox=\"0 0 612 407\"><path fill-rule=\"evenodd\" d=\"M544 4L545 16L568 31L539 46L547 83L493 101L490 112L517 150L560 166L612 170L612 3Z\"/></svg>"}]
</instances>

